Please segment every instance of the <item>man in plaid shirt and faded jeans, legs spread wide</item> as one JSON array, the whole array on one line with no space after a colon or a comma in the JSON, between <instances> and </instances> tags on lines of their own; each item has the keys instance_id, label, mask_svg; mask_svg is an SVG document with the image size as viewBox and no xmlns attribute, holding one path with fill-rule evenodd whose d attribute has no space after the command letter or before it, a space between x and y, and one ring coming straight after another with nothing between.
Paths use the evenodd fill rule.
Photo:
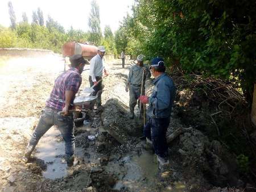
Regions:
<instances>
[{"instance_id":1,"label":"man in plaid shirt and faded jeans, legs spread wide","mask_svg":"<svg viewBox=\"0 0 256 192\"><path fill-rule=\"evenodd\" d=\"M60 74L55 80L51 95L46 101L46 107L42 112L38 126L32 133L28 142L26 152L22 160L27 162L34 151L39 139L46 133L49 128L55 125L61 132L65 141L65 153L67 164L73 165L75 151L75 136L73 127L73 115L68 112L73 108L75 95L79 90L82 82L81 73L84 65L88 61L84 60L81 55L73 55L70 58L71 68ZM63 115L59 112L63 111Z\"/></svg>"}]
</instances>

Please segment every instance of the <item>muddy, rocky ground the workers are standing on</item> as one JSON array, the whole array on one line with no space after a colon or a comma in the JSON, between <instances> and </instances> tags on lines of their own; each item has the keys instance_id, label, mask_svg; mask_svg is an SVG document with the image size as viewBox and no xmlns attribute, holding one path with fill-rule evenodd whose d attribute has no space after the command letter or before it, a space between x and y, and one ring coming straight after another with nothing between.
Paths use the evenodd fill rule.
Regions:
<instances>
[{"instance_id":1,"label":"muddy, rocky ground the workers are standing on","mask_svg":"<svg viewBox=\"0 0 256 192\"><path fill-rule=\"evenodd\" d=\"M121 60L106 61L101 110L87 112L86 123L77 124L77 164L68 168L64 142L52 127L42 137L28 164L20 161L55 78L63 70L60 56L5 58L0 67L0 190L1 191L253 191L243 182L237 164L220 142L193 127L185 127L175 102L168 136L170 168L158 171L156 157L146 151L142 119L129 119L126 68ZM89 66L85 66L88 68ZM89 86L88 70L81 87ZM147 81L147 93L151 90ZM183 94L180 91L179 99ZM246 188L247 187L247 188Z\"/></svg>"}]
</instances>

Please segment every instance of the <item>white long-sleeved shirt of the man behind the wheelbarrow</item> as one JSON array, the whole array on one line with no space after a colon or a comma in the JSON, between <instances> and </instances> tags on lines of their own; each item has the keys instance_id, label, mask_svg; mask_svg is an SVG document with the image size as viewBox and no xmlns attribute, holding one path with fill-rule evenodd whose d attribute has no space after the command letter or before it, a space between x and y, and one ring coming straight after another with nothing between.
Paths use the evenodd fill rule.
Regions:
<instances>
[{"instance_id":1,"label":"white long-sleeved shirt of the man behind the wheelbarrow","mask_svg":"<svg viewBox=\"0 0 256 192\"><path fill-rule=\"evenodd\" d=\"M96 81L96 77L101 77L103 73L104 64L103 64L103 59L101 59L100 55L94 56L90 60L90 72L89 75L92 77L92 81Z\"/></svg>"}]
</instances>

